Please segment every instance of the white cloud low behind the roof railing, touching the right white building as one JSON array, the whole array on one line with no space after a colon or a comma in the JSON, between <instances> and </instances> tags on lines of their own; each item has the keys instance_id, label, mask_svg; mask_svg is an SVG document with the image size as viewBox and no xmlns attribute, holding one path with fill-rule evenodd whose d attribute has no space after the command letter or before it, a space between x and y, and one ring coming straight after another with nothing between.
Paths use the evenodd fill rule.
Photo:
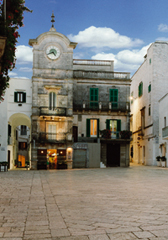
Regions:
<instances>
[{"instance_id":1,"label":"white cloud low behind the roof railing, touching the right white building","mask_svg":"<svg viewBox=\"0 0 168 240\"><path fill-rule=\"evenodd\" d=\"M147 49L150 44L143 47L142 49L134 50L123 50L118 52L116 55L113 53L98 53L92 56L94 60L114 60L115 71L136 71L144 60L144 56L147 53Z\"/></svg>"}]
</instances>

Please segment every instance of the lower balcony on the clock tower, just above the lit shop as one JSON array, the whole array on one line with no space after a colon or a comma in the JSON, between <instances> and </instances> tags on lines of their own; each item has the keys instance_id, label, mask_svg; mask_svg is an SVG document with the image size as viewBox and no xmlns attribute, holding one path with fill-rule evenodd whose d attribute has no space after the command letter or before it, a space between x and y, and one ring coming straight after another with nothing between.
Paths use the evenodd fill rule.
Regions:
<instances>
[{"instance_id":1,"label":"lower balcony on the clock tower, just above the lit shop","mask_svg":"<svg viewBox=\"0 0 168 240\"><path fill-rule=\"evenodd\" d=\"M66 141L66 133L39 133L40 143L64 143Z\"/></svg>"}]
</instances>

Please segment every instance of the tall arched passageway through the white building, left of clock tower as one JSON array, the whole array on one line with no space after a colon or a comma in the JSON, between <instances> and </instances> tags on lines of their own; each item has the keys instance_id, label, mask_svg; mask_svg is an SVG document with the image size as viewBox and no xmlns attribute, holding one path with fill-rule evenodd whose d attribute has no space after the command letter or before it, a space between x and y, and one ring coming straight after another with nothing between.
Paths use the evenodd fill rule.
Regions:
<instances>
[{"instance_id":1,"label":"tall arched passageway through the white building, left of clock tower","mask_svg":"<svg viewBox=\"0 0 168 240\"><path fill-rule=\"evenodd\" d=\"M31 164L31 120L15 113L8 120L8 163L10 169Z\"/></svg>"}]
</instances>

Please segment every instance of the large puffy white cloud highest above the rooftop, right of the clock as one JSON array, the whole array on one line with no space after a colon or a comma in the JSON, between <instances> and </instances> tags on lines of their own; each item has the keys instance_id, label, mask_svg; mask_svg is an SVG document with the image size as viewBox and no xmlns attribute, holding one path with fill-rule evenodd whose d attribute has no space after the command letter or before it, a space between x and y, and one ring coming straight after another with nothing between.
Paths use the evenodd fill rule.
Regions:
<instances>
[{"instance_id":1,"label":"large puffy white cloud highest above the rooftop, right of the clock","mask_svg":"<svg viewBox=\"0 0 168 240\"><path fill-rule=\"evenodd\" d=\"M80 31L77 35L70 34L68 38L71 41L78 42L79 47L129 48L143 44L141 39L131 39L120 35L111 28L96 28L94 26Z\"/></svg>"}]
</instances>

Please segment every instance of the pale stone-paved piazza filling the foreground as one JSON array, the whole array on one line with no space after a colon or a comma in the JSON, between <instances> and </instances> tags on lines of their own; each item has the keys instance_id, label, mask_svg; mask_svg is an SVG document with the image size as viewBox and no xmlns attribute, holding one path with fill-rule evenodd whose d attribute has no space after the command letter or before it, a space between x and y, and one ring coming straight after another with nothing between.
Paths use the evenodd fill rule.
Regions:
<instances>
[{"instance_id":1,"label":"pale stone-paved piazza filling the foreground","mask_svg":"<svg viewBox=\"0 0 168 240\"><path fill-rule=\"evenodd\" d=\"M0 239L168 239L168 169L0 173Z\"/></svg>"}]
</instances>

